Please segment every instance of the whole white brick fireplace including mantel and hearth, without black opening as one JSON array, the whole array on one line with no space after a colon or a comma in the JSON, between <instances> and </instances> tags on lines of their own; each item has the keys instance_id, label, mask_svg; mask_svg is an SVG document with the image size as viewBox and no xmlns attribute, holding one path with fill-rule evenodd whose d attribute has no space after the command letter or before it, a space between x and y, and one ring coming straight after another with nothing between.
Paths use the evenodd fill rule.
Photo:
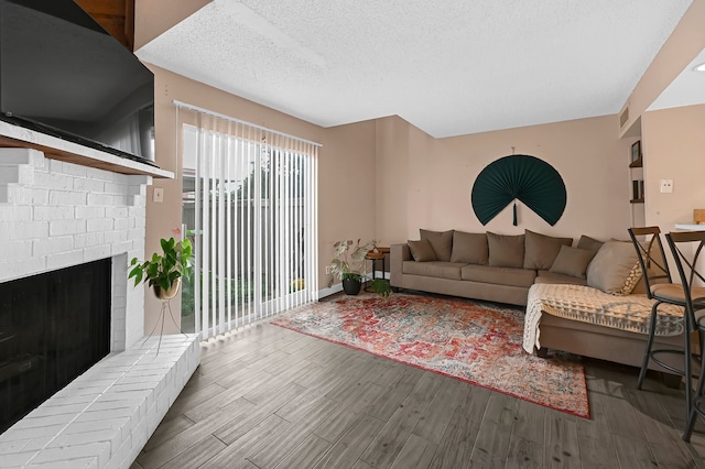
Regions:
<instances>
[{"instance_id":1,"label":"whole white brick fireplace including mantel and hearth, without black opening","mask_svg":"<svg viewBox=\"0 0 705 469\"><path fill-rule=\"evenodd\" d=\"M68 152L79 157L0 149L0 283L111 258L111 353L0 435L0 468L129 467L199 360L195 336L165 336L156 355L159 339L143 339L144 288L127 279L129 260L144 259L147 186L171 173Z\"/></svg>"}]
</instances>

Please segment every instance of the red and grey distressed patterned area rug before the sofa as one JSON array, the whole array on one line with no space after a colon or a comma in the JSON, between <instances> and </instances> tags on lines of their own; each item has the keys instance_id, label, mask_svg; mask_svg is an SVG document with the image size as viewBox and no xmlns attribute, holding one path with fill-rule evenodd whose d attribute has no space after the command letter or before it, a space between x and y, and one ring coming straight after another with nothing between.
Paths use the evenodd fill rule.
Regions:
<instances>
[{"instance_id":1,"label":"red and grey distressed patterned area rug before the sofa","mask_svg":"<svg viewBox=\"0 0 705 469\"><path fill-rule=\"evenodd\" d=\"M589 418L579 357L528 355L523 316L465 299L392 294L319 302L272 324Z\"/></svg>"}]
</instances>

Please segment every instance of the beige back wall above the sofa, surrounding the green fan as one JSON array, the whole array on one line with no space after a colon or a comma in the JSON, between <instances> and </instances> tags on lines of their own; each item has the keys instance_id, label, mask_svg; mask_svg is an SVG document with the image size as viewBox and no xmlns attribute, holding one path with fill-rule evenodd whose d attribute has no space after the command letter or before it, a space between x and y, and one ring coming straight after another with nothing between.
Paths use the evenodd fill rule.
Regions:
<instances>
[{"instance_id":1,"label":"beige back wall above the sofa, surrounding the green fan","mask_svg":"<svg viewBox=\"0 0 705 469\"><path fill-rule=\"evenodd\" d=\"M409 153L390 151L378 155L389 160L378 166L393 167L401 175L390 174L378 184L378 206L393 199L393 209L402 211L393 217L397 225L387 228L388 241L417 239L419 228L508 234L530 229L575 239L583 233L626 239L630 226L630 142L619 140L617 128L617 117L607 116L441 140L409 129L406 137L413 134ZM563 177L567 205L554 227L521 203L517 227L512 226L511 206L487 226L475 216L470 205L475 178L489 163L512 154L512 146L516 154L550 163ZM400 194L405 195L405 201Z\"/></svg>"}]
</instances>

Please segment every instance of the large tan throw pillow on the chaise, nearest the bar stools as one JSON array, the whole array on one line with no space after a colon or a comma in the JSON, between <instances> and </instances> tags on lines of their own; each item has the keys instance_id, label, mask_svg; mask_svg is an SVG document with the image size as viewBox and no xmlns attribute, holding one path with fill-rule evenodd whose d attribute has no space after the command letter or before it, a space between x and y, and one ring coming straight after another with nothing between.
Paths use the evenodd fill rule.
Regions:
<instances>
[{"instance_id":1,"label":"large tan throw pillow on the chaise, nearest the bar stools","mask_svg":"<svg viewBox=\"0 0 705 469\"><path fill-rule=\"evenodd\" d=\"M603 244L587 266L587 285L614 295L628 295L641 279L637 251L630 241Z\"/></svg>"}]
</instances>

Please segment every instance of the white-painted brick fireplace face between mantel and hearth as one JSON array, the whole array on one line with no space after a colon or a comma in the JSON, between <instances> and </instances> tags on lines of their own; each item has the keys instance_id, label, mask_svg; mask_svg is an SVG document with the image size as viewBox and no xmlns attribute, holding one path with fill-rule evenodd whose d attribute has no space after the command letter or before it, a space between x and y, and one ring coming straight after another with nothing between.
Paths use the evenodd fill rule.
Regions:
<instances>
[{"instance_id":1,"label":"white-painted brick fireplace face between mantel and hearth","mask_svg":"<svg viewBox=\"0 0 705 469\"><path fill-rule=\"evenodd\" d=\"M144 335L144 288L127 277L144 258L151 176L132 176L0 149L0 282L113 258L111 351ZM122 255L124 254L124 255Z\"/></svg>"}]
</instances>

